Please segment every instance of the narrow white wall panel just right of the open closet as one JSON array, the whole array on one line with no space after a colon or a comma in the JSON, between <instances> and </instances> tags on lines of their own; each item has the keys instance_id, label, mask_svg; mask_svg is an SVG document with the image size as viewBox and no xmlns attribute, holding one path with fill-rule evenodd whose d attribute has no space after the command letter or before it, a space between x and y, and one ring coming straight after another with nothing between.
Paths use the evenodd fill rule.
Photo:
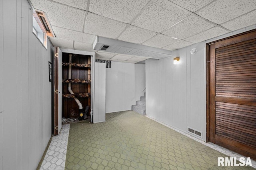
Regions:
<instances>
[{"instance_id":1,"label":"narrow white wall panel just right of the open closet","mask_svg":"<svg viewBox=\"0 0 256 170\"><path fill-rule=\"evenodd\" d=\"M93 123L106 121L106 64L94 64Z\"/></svg>"}]
</instances>

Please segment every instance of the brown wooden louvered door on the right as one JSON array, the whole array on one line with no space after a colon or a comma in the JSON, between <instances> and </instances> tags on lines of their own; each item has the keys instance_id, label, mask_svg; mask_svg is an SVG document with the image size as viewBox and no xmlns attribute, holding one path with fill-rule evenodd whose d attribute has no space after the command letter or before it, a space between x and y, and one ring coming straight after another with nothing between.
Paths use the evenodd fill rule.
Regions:
<instances>
[{"instance_id":1,"label":"brown wooden louvered door on the right","mask_svg":"<svg viewBox=\"0 0 256 170\"><path fill-rule=\"evenodd\" d=\"M208 47L209 141L256 159L256 31Z\"/></svg>"}]
</instances>

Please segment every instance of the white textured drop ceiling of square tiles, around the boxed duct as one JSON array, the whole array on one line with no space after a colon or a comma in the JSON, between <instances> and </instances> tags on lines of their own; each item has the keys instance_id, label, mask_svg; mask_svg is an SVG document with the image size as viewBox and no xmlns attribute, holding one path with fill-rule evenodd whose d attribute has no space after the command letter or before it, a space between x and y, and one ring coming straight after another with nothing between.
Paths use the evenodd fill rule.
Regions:
<instances>
[{"instance_id":1,"label":"white textured drop ceiling of square tiles, around the boxed duct","mask_svg":"<svg viewBox=\"0 0 256 170\"><path fill-rule=\"evenodd\" d=\"M173 51L256 24L256 0L30 0L44 11L53 45L96 52L96 59L148 59L94 51L97 36Z\"/></svg>"}]
</instances>

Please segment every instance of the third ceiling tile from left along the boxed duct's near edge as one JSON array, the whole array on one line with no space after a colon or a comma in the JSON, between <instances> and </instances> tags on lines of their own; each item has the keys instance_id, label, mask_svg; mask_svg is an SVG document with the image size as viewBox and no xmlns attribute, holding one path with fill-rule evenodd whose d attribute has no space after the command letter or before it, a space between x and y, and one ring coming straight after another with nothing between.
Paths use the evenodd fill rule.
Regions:
<instances>
[{"instance_id":1,"label":"third ceiling tile from left along the boxed duct's near edge","mask_svg":"<svg viewBox=\"0 0 256 170\"><path fill-rule=\"evenodd\" d=\"M143 45L156 47L156 48L162 48L166 45L175 43L177 41L180 41L179 39L174 39L172 37L169 37L167 35L158 34L154 36L153 38L149 39L148 41L142 43Z\"/></svg>"}]
</instances>

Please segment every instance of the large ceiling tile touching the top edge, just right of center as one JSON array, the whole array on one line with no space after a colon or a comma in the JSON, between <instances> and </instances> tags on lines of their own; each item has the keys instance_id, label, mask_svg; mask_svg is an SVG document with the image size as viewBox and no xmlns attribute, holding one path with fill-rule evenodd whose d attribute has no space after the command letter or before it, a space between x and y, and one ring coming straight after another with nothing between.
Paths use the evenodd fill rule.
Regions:
<instances>
[{"instance_id":1,"label":"large ceiling tile touching the top edge, just right of center","mask_svg":"<svg viewBox=\"0 0 256 170\"><path fill-rule=\"evenodd\" d=\"M132 25L159 33L188 15L189 13L173 6L168 0L154 0Z\"/></svg>"}]
</instances>

